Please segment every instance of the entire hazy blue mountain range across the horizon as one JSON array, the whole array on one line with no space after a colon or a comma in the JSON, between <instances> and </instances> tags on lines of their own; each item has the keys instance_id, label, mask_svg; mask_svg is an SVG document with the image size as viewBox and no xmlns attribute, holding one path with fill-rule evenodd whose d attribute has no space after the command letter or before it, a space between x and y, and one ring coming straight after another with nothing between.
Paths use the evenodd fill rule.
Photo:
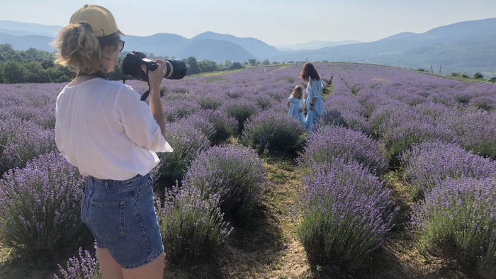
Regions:
<instances>
[{"instance_id":1,"label":"entire hazy blue mountain range across the horizon","mask_svg":"<svg viewBox=\"0 0 496 279\"><path fill-rule=\"evenodd\" d=\"M34 47L53 51L50 44L62 26L0 21L0 44L16 50ZM425 33L399 33L375 42L312 41L274 47L255 38L205 32L188 39L181 35L158 33L151 36L125 36L126 50L154 55L224 62L248 59L270 61L323 61L387 64L396 67L441 67L450 72L496 74L496 18L464 21L434 28Z\"/></svg>"}]
</instances>

